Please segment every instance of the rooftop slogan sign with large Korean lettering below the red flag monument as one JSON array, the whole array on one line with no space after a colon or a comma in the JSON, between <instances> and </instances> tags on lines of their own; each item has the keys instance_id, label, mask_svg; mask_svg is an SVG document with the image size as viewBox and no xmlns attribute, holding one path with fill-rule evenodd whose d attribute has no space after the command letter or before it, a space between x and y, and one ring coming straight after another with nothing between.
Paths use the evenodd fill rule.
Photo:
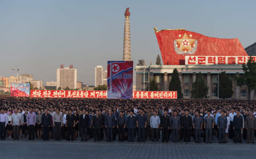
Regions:
<instances>
[{"instance_id":1,"label":"rooftop slogan sign with large Korean lettering below the red flag monument","mask_svg":"<svg viewBox=\"0 0 256 159\"><path fill-rule=\"evenodd\" d=\"M252 61L256 56L251 56ZM250 56L186 56L186 65L212 65L212 64L245 64Z\"/></svg>"}]
</instances>

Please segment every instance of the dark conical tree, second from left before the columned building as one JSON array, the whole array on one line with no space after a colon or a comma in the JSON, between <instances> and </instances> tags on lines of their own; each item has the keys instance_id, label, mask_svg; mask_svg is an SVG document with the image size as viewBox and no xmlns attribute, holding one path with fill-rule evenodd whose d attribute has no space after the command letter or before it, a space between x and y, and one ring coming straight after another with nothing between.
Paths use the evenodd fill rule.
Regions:
<instances>
[{"instance_id":1,"label":"dark conical tree, second from left before the columned building","mask_svg":"<svg viewBox=\"0 0 256 159\"><path fill-rule=\"evenodd\" d=\"M199 72L196 75L196 81L192 83L192 91L191 91L191 98L200 99L200 98L207 98L208 89L204 83L204 78Z\"/></svg>"}]
</instances>

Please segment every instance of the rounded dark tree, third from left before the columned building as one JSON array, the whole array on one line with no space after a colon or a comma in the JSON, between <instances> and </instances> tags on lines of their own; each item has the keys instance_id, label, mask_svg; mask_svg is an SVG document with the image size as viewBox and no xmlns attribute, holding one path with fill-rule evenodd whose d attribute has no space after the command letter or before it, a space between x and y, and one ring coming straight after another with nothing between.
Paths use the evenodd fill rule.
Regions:
<instances>
[{"instance_id":1,"label":"rounded dark tree, third from left before the columned building","mask_svg":"<svg viewBox=\"0 0 256 159\"><path fill-rule=\"evenodd\" d=\"M234 94L232 90L232 81L225 72L219 75L219 98L231 98ZM218 84L215 86L215 92L218 93Z\"/></svg>"}]
</instances>

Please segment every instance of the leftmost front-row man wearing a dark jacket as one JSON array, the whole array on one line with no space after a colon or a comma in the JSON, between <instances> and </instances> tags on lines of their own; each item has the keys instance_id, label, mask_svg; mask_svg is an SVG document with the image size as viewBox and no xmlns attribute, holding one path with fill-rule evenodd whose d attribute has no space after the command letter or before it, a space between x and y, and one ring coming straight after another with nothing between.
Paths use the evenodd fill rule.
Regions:
<instances>
[{"instance_id":1,"label":"leftmost front-row man wearing a dark jacket","mask_svg":"<svg viewBox=\"0 0 256 159\"><path fill-rule=\"evenodd\" d=\"M42 115L41 125L43 127L43 140L49 140L49 128L52 123L51 114L48 114L47 108L44 110L44 114Z\"/></svg>"}]
</instances>

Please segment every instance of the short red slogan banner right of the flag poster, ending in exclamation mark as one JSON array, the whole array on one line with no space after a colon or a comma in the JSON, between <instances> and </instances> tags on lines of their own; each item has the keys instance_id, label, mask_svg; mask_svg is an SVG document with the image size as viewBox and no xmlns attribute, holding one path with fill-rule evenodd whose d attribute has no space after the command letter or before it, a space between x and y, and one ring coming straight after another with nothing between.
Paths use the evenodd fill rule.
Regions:
<instances>
[{"instance_id":1,"label":"short red slogan banner right of the flag poster, ending in exclamation mark","mask_svg":"<svg viewBox=\"0 0 256 159\"><path fill-rule=\"evenodd\" d=\"M132 98L177 99L177 91L133 91Z\"/></svg>"}]
</instances>

